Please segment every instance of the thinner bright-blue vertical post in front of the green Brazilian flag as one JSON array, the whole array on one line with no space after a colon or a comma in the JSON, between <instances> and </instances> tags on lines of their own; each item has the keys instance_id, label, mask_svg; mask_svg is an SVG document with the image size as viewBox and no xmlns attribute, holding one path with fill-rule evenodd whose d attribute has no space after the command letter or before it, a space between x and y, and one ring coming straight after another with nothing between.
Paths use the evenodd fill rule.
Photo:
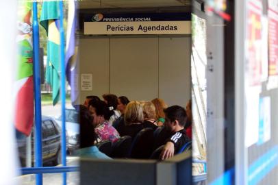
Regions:
<instances>
[{"instance_id":1,"label":"thinner bright-blue vertical post in front of the green Brazilian flag","mask_svg":"<svg viewBox=\"0 0 278 185\"><path fill-rule=\"evenodd\" d=\"M63 1L60 0L60 49L61 49L61 111L62 111L62 165L66 167L66 119L65 119L65 105L66 105L66 67L64 62L64 12ZM66 172L63 173L63 184L66 185Z\"/></svg>"}]
</instances>

